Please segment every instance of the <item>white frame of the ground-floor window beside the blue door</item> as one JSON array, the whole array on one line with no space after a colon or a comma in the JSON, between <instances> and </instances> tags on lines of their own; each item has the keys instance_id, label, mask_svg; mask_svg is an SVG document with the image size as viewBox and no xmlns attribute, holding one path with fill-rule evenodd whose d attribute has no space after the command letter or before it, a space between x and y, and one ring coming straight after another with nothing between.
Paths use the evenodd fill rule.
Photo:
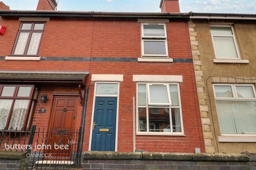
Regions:
<instances>
[{"instance_id":1,"label":"white frame of the ground-floor window beside the blue door","mask_svg":"<svg viewBox=\"0 0 256 170\"><path fill-rule=\"evenodd\" d=\"M178 89L178 97L179 97L179 106L149 106L148 105L148 88L147 88L147 84L168 84L168 87L172 84L177 85L177 89ZM145 106L139 106L138 105L138 87L139 84L145 84L146 85L146 105ZM170 91L169 91L170 94ZM146 108L146 121L147 121L147 132L140 132L139 131L139 108ZM171 132L149 132L149 108L168 108L169 112L171 113L171 109L172 108L179 108L179 112L180 112L180 123L181 123L181 132L172 132L173 131L173 127L172 127L172 116L170 114L170 126L171 126ZM170 135L170 136L185 136L185 132L184 132L184 126L183 126L183 116L182 116L182 105L181 105L181 96L180 96L180 84L178 82L170 82L170 83L163 83L163 82L137 82L136 83L136 135Z\"/></svg>"}]
</instances>

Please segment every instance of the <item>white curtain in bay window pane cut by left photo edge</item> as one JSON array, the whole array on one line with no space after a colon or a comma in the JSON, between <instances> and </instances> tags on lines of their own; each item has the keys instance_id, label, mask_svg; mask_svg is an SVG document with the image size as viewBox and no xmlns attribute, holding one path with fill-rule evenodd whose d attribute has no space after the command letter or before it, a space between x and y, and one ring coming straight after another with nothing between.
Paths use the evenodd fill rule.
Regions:
<instances>
[{"instance_id":1,"label":"white curtain in bay window pane cut by left photo edge","mask_svg":"<svg viewBox=\"0 0 256 170\"><path fill-rule=\"evenodd\" d=\"M12 100L10 99L1 99L0 100L0 129L4 129L10 110L12 107Z\"/></svg>"}]
</instances>

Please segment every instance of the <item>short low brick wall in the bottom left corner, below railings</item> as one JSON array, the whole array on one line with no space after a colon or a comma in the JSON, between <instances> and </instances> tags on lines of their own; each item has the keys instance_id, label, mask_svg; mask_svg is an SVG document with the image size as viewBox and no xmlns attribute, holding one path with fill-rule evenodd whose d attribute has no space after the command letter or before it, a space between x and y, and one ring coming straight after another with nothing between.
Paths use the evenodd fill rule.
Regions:
<instances>
[{"instance_id":1,"label":"short low brick wall in the bottom left corner, below railings","mask_svg":"<svg viewBox=\"0 0 256 170\"><path fill-rule=\"evenodd\" d=\"M26 152L0 151L0 169L26 169L28 159Z\"/></svg>"}]
</instances>

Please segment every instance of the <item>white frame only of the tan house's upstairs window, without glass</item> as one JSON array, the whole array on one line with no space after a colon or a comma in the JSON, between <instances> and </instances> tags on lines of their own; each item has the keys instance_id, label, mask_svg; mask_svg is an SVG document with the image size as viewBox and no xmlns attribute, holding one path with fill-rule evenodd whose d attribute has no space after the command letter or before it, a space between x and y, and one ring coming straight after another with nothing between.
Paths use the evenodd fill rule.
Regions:
<instances>
[{"instance_id":1,"label":"white frame only of the tan house's upstairs window, without glass","mask_svg":"<svg viewBox=\"0 0 256 170\"><path fill-rule=\"evenodd\" d=\"M211 32L211 27L216 27L216 28L221 28L221 27L226 27L226 28L231 28L232 34L233 35L213 35ZM211 33L211 37L212 37L212 44L213 44L213 49L214 49L214 54L215 54L215 59L218 60L242 60L241 55L240 55L240 51L239 51L239 47L236 41L236 35L235 35L235 30L233 28L233 25L210 25L210 33ZM234 40L234 44L235 44L235 48L236 48L236 53L237 53L237 57L236 58L221 58L217 56L217 50L215 47L215 43L214 43L214 37L232 37Z\"/></svg>"}]
</instances>

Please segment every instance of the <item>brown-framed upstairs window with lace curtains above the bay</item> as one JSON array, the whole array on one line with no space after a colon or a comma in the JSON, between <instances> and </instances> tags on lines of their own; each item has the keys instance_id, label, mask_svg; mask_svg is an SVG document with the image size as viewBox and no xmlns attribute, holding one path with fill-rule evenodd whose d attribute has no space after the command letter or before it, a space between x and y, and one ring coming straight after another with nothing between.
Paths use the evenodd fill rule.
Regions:
<instances>
[{"instance_id":1,"label":"brown-framed upstairs window with lace curtains above the bay","mask_svg":"<svg viewBox=\"0 0 256 170\"><path fill-rule=\"evenodd\" d=\"M15 40L12 55L38 55L44 22L22 22Z\"/></svg>"}]
</instances>

